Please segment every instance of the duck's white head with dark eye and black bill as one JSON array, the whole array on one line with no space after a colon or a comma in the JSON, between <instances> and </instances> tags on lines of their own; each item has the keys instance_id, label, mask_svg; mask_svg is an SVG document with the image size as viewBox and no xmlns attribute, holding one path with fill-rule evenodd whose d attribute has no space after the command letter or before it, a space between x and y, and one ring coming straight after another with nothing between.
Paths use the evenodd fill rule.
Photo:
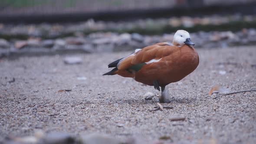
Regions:
<instances>
[{"instance_id":1,"label":"duck's white head with dark eye and black bill","mask_svg":"<svg viewBox=\"0 0 256 144\"><path fill-rule=\"evenodd\" d=\"M172 41L174 46L184 46L186 45L195 45L190 40L190 35L185 30L177 30L177 32L174 34L174 39Z\"/></svg>"}]
</instances>

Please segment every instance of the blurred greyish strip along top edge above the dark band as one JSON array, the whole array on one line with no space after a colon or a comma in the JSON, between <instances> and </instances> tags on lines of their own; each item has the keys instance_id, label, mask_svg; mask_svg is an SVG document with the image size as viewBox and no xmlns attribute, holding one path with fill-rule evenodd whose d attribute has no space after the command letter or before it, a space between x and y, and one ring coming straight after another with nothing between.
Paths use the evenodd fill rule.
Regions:
<instances>
[{"instance_id":1,"label":"blurred greyish strip along top edge above the dark band","mask_svg":"<svg viewBox=\"0 0 256 144\"><path fill-rule=\"evenodd\" d=\"M12 17L15 19L22 16L32 16L32 19L36 16L182 9L184 7L203 8L253 2L256 0L0 0L0 18L8 20Z\"/></svg>"}]
</instances>

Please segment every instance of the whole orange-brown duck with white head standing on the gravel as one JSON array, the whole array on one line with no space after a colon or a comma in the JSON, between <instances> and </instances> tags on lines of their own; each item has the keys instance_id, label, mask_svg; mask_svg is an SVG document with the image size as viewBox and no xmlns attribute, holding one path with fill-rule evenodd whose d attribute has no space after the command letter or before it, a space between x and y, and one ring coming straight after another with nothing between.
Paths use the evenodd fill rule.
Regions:
<instances>
[{"instance_id":1,"label":"whole orange-brown duck with white head standing on the gravel","mask_svg":"<svg viewBox=\"0 0 256 144\"><path fill-rule=\"evenodd\" d=\"M194 49L190 35L185 30L174 34L172 44L156 43L143 49L136 49L130 56L121 58L108 65L114 68L104 75L131 77L137 82L154 86L160 91L161 103L170 102L165 88L172 82L178 82L193 72L199 64L199 56Z\"/></svg>"}]
</instances>

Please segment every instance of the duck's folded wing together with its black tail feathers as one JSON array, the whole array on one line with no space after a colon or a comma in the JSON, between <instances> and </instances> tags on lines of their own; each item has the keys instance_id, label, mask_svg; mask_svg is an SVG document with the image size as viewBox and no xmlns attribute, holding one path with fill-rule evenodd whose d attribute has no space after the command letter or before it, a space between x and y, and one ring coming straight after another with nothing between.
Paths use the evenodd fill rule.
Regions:
<instances>
[{"instance_id":1,"label":"duck's folded wing together with its black tail feathers","mask_svg":"<svg viewBox=\"0 0 256 144\"><path fill-rule=\"evenodd\" d=\"M108 65L114 68L103 75L121 75L124 77L134 77L133 72L139 71L144 65L157 64L163 57L169 56L177 46L170 43L157 43L143 49L136 49L131 55L118 59Z\"/></svg>"}]
</instances>

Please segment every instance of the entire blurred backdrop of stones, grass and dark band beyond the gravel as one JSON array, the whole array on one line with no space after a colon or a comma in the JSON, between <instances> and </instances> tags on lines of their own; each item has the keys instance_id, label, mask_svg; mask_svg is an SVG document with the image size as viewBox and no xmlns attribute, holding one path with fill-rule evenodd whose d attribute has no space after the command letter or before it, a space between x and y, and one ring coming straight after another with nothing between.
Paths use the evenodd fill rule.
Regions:
<instances>
[{"instance_id":1,"label":"entire blurred backdrop of stones, grass and dark band beyond the gravel","mask_svg":"<svg viewBox=\"0 0 256 144\"><path fill-rule=\"evenodd\" d=\"M256 0L0 0L0 56L113 52L171 42L256 44Z\"/></svg>"}]
</instances>

